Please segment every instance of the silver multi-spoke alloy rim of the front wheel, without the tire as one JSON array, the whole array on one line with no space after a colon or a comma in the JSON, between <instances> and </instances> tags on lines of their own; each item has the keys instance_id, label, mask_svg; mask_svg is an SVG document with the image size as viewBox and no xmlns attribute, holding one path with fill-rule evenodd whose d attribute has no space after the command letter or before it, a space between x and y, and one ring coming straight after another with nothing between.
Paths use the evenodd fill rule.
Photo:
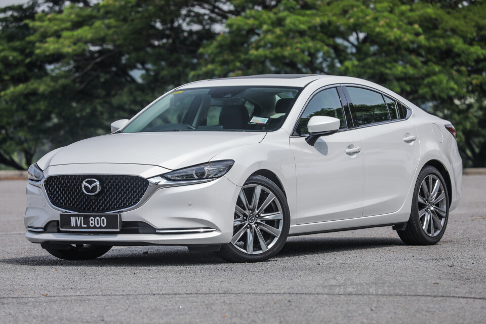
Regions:
<instances>
[{"instance_id":1,"label":"silver multi-spoke alloy rim of the front wheel, without the tire","mask_svg":"<svg viewBox=\"0 0 486 324\"><path fill-rule=\"evenodd\" d=\"M282 206L275 194L260 184L245 185L236 201L231 244L246 254L264 253L275 245L283 224Z\"/></svg>"}]
</instances>

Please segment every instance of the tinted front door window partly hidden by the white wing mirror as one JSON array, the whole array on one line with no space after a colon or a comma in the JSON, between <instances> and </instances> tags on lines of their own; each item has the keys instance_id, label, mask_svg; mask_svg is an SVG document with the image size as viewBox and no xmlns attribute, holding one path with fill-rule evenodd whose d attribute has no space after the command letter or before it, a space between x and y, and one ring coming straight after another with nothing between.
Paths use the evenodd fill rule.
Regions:
<instances>
[{"instance_id":1,"label":"tinted front door window partly hidden by the white wing mirror","mask_svg":"<svg viewBox=\"0 0 486 324\"><path fill-rule=\"evenodd\" d=\"M299 135L309 134L307 123L312 116L329 116L341 120L339 129L346 128L346 119L344 118L343 106L339 99L336 88L322 90L316 94L305 107L304 113L300 117L297 132Z\"/></svg>"}]
</instances>

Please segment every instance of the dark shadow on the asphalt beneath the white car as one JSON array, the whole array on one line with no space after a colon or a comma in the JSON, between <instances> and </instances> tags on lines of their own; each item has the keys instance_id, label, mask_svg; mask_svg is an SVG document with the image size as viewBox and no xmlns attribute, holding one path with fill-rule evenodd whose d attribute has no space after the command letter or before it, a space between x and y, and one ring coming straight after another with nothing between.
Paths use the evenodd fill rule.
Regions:
<instances>
[{"instance_id":1,"label":"dark shadow on the asphalt beneath the white car","mask_svg":"<svg viewBox=\"0 0 486 324\"><path fill-rule=\"evenodd\" d=\"M284 248L266 262L289 257L326 254L334 252L354 253L356 250L404 246L399 238L391 237L290 237ZM39 246L39 249L41 247ZM0 263L22 266L85 266L85 267L151 267L193 266L225 264L212 252L190 252L185 247L129 247L113 248L106 255L83 261L57 259L43 254L31 257L0 259Z\"/></svg>"}]
</instances>

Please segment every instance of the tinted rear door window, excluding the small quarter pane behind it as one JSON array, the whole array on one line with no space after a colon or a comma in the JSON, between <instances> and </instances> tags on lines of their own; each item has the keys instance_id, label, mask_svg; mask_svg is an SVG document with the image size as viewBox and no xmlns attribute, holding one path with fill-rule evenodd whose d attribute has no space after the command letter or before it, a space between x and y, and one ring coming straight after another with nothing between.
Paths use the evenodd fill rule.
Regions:
<instances>
[{"instance_id":1,"label":"tinted rear door window, excluding the small quarter pane behind it","mask_svg":"<svg viewBox=\"0 0 486 324\"><path fill-rule=\"evenodd\" d=\"M346 87L356 112L358 126L390 120L383 96L377 92L355 87Z\"/></svg>"}]
</instances>

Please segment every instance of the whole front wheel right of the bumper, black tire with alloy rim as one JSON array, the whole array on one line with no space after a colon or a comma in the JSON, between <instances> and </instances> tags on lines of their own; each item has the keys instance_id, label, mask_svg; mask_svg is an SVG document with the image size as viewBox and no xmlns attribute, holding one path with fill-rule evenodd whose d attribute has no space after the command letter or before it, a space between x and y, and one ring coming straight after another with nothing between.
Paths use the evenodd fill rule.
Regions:
<instances>
[{"instance_id":1,"label":"whole front wheel right of the bumper, black tire with alloy rim","mask_svg":"<svg viewBox=\"0 0 486 324\"><path fill-rule=\"evenodd\" d=\"M290 228L282 190L265 177L248 178L236 201L233 228L231 242L222 245L217 256L229 262L261 262L275 256L284 247Z\"/></svg>"}]
</instances>

